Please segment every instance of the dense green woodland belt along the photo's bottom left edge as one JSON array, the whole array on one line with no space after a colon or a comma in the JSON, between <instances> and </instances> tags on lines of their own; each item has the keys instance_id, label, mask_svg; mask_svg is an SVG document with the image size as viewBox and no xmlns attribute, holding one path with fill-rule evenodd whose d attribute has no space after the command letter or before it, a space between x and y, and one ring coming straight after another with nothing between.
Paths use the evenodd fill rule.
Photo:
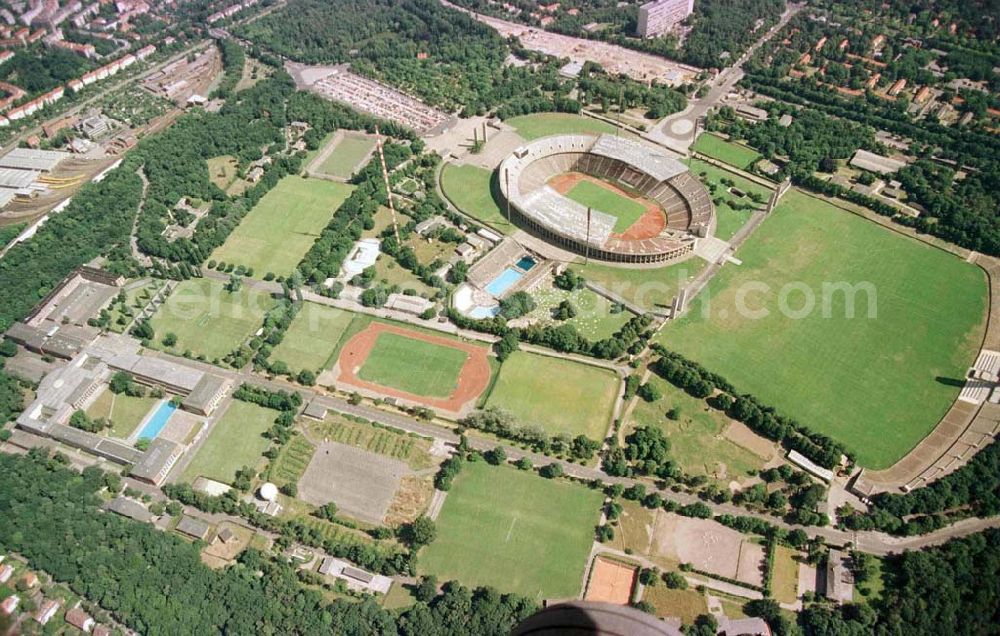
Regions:
<instances>
[{"instance_id":1,"label":"dense green woodland belt along the photo's bottom left edge","mask_svg":"<svg viewBox=\"0 0 1000 636\"><path fill-rule=\"evenodd\" d=\"M139 633L506 634L537 610L519 596L455 583L401 612L372 600L330 603L301 586L292 565L253 549L212 570L199 544L102 514L99 469L81 474L33 457L0 456L0 546Z\"/></svg>"}]
</instances>

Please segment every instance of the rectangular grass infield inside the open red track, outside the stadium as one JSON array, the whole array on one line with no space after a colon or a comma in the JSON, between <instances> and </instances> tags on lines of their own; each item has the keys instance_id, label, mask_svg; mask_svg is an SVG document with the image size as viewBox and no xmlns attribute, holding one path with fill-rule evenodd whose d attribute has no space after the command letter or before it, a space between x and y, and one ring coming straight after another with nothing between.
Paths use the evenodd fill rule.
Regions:
<instances>
[{"instance_id":1,"label":"rectangular grass infield inside the open red track, outside the stadium","mask_svg":"<svg viewBox=\"0 0 1000 636\"><path fill-rule=\"evenodd\" d=\"M358 377L407 393L448 397L468 357L461 349L380 333Z\"/></svg>"}]
</instances>

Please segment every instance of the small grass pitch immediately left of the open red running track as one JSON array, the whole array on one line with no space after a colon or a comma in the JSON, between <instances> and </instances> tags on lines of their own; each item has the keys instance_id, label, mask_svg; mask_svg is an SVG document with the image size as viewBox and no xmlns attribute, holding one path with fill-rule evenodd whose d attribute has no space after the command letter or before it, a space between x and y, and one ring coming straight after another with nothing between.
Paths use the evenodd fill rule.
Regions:
<instances>
[{"instance_id":1,"label":"small grass pitch immediately left of the open red running track","mask_svg":"<svg viewBox=\"0 0 1000 636\"><path fill-rule=\"evenodd\" d=\"M271 359L282 360L293 371L329 369L355 316L343 309L303 303Z\"/></svg>"}]
</instances>

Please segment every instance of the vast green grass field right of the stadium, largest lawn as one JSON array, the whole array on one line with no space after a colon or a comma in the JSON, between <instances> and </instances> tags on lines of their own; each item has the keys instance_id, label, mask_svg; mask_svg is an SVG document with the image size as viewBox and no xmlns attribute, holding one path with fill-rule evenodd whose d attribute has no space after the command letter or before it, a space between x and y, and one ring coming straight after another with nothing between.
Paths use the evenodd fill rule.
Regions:
<instances>
[{"instance_id":1,"label":"vast green grass field right of the stadium, largest lawn","mask_svg":"<svg viewBox=\"0 0 1000 636\"><path fill-rule=\"evenodd\" d=\"M661 343L869 468L890 466L934 428L982 338L979 268L797 189L737 256L743 264L724 267ZM849 294L831 293L842 283L869 290L850 294L853 318ZM810 297L814 309L794 313Z\"/></svg>"}]
</instances>

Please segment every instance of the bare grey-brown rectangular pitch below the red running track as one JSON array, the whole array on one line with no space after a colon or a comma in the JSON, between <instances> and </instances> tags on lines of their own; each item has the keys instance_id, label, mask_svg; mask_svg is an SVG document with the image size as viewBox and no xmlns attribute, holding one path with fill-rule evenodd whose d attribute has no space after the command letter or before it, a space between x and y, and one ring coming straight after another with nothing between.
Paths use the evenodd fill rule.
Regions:
<instances>
[{"instance_id":1,"label":"bare grey-brown rectangular pitch below the red running track","mask_svg":"<svg viewBox=\"0 0 1000 636\"><path fill-rule=\"evenodd\" d=\"M322 442L299 480L299 499L316 506L334 502L348 515L381 523L409 467L384 455Z\"/></svg>"}]
</instances>

